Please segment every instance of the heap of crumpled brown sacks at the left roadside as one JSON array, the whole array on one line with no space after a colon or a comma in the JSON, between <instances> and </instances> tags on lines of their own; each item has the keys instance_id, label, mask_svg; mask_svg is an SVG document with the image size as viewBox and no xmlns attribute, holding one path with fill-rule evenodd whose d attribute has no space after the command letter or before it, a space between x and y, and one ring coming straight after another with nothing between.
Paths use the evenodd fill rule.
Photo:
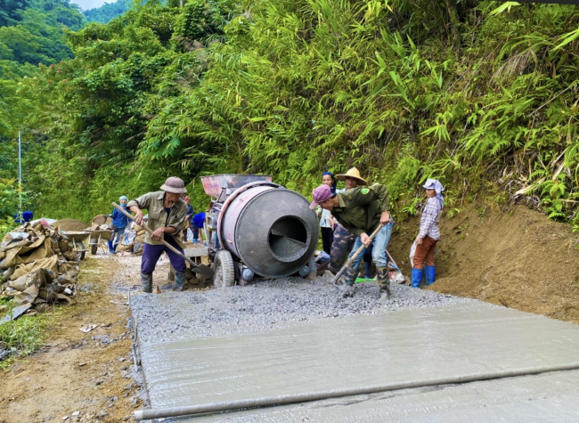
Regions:
<instances>
[{"instance_id":1,"label":"heap of crumpled brown sacks at the left roadside","mask_svg":"<svg viewBox=\"0 0 579 423\"><path fill-rule=\"evenodd\" d=\"M14 229L0 243L0 295L30 305L29 313L71 303L78 272L72 242L46 219Z\"/></svg>"}]
</instances>

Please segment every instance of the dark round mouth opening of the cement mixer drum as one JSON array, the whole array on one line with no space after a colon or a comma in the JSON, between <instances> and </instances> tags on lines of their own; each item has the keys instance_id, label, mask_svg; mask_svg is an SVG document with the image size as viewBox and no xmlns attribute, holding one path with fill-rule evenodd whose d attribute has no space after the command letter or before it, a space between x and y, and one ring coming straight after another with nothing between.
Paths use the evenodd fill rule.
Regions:
<instances>
[{"instance_id":1,"label":"dark round mouth opening of the cement mixer drum","mask_svg":"<svg viewBox=\"0 0 579 423\"><path fill-rule=\"evenodd\" d=\"M267 238L273 255L284 262L303 256L307 250L307 230L301 219L283 216L276 220Z\"/></svg>"}]
</instances>

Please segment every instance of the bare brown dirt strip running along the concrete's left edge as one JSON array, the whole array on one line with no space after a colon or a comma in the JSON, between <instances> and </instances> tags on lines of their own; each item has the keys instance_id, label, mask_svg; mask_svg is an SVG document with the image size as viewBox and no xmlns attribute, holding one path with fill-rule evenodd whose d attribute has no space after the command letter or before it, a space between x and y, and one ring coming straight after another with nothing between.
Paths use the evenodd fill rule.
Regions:
<instances>
[{"instance_id":1,"label":"bare brown dirt strip running along the concrete's left edge","mask_svg":"<svg viewBox=\"0 0 579 423\"><path fill-rule=\"evenodd\" d=\"M133 378L128 291L140 290L139 264L140 257L87 256L75 304L49 312L55 324L42 351L0 378L1 423L133 420L143 400ZM155 273L167 280L168 261ZM84 325L96 326L83 333Z\"/></svg>"}]
</instances>

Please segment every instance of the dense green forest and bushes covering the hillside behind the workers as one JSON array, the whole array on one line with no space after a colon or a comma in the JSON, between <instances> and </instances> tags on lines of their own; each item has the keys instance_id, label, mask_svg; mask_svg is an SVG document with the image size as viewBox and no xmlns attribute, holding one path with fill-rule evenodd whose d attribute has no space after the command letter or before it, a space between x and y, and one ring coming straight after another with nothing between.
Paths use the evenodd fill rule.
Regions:
<instances>
[{"instance_id":1,"label":"dense green forest and bushes covering the hillside behind the workers","mask_svg":"<svg viewBox=\"0 0 579 423\"><path fill-rule=\"evenodd\" d=\"M0 0L0 229L20 195L89 221L169 175L200 209L200 175L310 198L353 166L398 219L435 177L448 216L518 201L579 227L578 38L568 4L148 0L88 23Z\"/></svg>"}]
</instances>

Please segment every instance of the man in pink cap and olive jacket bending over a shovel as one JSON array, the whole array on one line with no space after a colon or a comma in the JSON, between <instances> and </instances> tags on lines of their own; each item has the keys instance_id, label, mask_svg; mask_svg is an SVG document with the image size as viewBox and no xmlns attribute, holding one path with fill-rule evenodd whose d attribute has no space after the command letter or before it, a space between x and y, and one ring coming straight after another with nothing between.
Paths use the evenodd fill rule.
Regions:
<instances>
[{"instance_id":1,"label":"man in pink cap and olive jacket bending over a shovel","mask_svg":"<svg viewBox=\"0 0 579 423\"><path fill-rule=\"evenodd\" d=\"M362 181L365 183L363 179ZM392 224L386 186L374 183L368 188L353 188L340 194L332 194L328 185L320 185L313 193L314 201L310 204L311 209L320 205L330 210L332 216L336 217L340 224L358 237L351 255L362 246L368 247L371 243L369 234L380 227L373 240L372 260L376 264L377 279L382 294L380 297L383 300L390 299L386 248L392 233ZM342 281L349 287L354 286L355 275L358 273L362 256L363 251L344 272Z\"/></svg>"}]
</instances>

